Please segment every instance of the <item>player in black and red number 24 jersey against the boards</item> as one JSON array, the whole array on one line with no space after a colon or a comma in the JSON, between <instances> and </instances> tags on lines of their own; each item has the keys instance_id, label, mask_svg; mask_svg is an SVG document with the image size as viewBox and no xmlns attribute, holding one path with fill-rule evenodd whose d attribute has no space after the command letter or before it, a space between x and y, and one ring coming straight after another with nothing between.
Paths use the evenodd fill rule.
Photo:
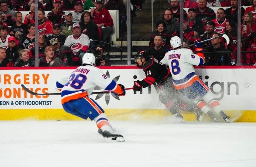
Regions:
<instances>
[{"instance_id":1,"label":"player in black and red number 24 jersey against the boards","mask_svg":"<svg viewBox=\"0 0 256 167\"><path fill-rule=\"evenodd\" d=\"M211 112L211 109L205 104L203 100L198 102L200 105L198 105L197 108L194 102L191 102L179 91L176 91L172 84L172 75L170 70L166 67L166 65L159 63L154 58L154 56L152 58L150 57L147 55L145 50L142 50L135 55L134 61L138 63L138 66L143 66L146 78L144 78L142 81L137 80L134 82L134 91L140 91L141 88L145 88L157 83L158 88L156 89L160 90L159 100L166 106L166 108L173 114L174 117L180 118L181 122L185 122L179 112L181 106L186 106L182 108L185 111L194 111L197 120L200 120L201 114L198 108L203 108L202 111L205 110L207 115L209 115L213 120L217 120L214 114Z\"/></svg>"}]
</instances>

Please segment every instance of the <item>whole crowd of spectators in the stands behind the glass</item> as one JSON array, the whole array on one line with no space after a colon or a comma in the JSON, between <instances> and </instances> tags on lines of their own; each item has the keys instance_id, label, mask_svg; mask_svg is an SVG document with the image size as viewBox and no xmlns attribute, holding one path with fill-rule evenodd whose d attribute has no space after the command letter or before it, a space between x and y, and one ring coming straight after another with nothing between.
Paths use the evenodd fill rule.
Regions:
<instances>
[{"instance_id":1,"label":"whole crowd of spectators in the stands behind the glass","mask_svg":"<svg viewBox=\"0 0 256 167\"><path fill-rule=\"evenodd\" d=\"M143 1L131 1L135 10L143 10ZM44 0L38 3L38 30L35 34L34 0L0 2L0 67L34 67L35 38L38 35L39 67L79 66L90 46L100 52L96 64L105 65L103 50L113 33L113 19L108 10L119 11L119 23L126 30L125 0ZM241 63L256 63L256 0L242 0L242 25L237 25L237 0L184 0L183 47L195 40L203 43L206 65L231 65L236 61L237 27L241 28ZM226 10L221 8L227 7ZM211 7L220 7L215 13ZM87 10L87 11L85 11ZM29 11L22 22L22 13ZM48 12L45 15L45 11ZM66 11L66 12L64 12ZM217 17L216 17L217 16ZM159 59L170 49L170 39L180 34L180 2L171 0L170 8L156 23L149 38L148 53ZM125 33L125 32L120 33ZM230 40L226 45L221 34ZM193 50L193 47L189 47ZM211 53L212 52L212 53ZM228 53L228 54L226 54ZM232 54L235 53L235 54Z\"/></svg>"}]
</instances>

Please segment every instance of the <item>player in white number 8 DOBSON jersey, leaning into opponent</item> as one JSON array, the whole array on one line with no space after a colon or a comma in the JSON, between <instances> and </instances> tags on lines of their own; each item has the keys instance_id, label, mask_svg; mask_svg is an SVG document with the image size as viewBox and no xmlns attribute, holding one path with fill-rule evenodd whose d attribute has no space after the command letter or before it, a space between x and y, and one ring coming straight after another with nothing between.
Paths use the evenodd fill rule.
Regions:
<instances>
[{"instance_id":1,"label":"player in white number 8 DOBSON jersey, leaning into opponent","mask_svg":"<svg viewBox=\"0 0 256 167\"><path fill-rule=\"evenodd\" d=\"M229 122L229 116L224 113L220 103L213 98L209 88L195 73L193 65L200 66L204 64L202 45L195 41L196 54L193 54L190 49L181 48L181 40L177 36L172 37L170 43L173 50L165 54L161 63L169 66L174 88L192 99L199 108L202 102L198 102L198 99L203 98L215 113L219 113L224 120ZM201 110L204 113L209 111L207 105L204 105Z\"/></svg>"}]
</instances>

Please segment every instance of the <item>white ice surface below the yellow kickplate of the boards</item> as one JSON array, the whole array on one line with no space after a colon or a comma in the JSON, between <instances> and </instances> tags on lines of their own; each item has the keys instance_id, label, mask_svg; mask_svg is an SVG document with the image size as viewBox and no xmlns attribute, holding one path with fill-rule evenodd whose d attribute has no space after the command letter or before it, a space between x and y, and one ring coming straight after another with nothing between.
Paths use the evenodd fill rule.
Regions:
<instances>
[{"instance_id":1,"label":"white ice surface below the yellow kickplate of the boards","mask_svg":"<svg viewBox=\"0 0 256 167\"><path fill-rule=\"evenodd\" d=\"M256 123L0 121L0 167L256 167Z\"/></svg>"}]
</instances>

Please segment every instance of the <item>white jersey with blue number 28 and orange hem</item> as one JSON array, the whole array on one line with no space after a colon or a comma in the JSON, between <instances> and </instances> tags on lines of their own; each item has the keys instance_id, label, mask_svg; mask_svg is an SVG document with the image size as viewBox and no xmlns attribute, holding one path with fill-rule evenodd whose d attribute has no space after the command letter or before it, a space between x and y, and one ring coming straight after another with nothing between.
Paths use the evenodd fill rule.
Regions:
<instances>
[{"instance_id":1,"label":"white jersey with blue number 28 and orange hem","mask_svg":"<svg viewBox=\"0 0 256 167\"><path fill-rule=\"evenodd\" d=\"M97 85L105 90L115 92L117 87L120 87L115 81L108 78L101 69L90 65L77 67L73 72L62 76L56 82L57 89L61 91L62 104L69 100L90 96Z\"/></svg>"}]
</instances>

